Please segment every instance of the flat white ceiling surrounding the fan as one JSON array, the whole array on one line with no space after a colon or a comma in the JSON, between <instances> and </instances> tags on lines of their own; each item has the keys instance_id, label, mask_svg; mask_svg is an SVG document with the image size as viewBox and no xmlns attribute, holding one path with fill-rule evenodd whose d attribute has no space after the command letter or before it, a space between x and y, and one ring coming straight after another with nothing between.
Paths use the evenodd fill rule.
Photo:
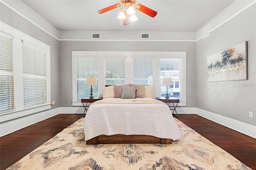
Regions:
<instances>
[{"instance_id":1,"label":"flat white ceiling surrounding the fan","mask_svg":"<svg viewBox=\"0 0 256 170\"><path fill-rule=\"evenodd\" d=\"M196 32L234 0L137 0L158 12L156 17L136 10L137 22L123 26L117 19L121 7L104 14L97 11L120 0L22 0L57 30Z\"/></svg>"}]
</instances>

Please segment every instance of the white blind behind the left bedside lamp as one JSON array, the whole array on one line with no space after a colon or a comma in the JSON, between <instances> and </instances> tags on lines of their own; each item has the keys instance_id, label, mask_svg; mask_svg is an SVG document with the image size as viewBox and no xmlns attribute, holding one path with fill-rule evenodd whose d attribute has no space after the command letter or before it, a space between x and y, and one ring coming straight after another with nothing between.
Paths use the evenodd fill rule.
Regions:
<instances>
[{"instance_id":1,"label":"white blind behind the left bedside lamp","mask_svg":"<svg viewBox=\"0 0 256 170\"><path fill-rule=\"evenodd\" d=\"M90 85L87 77L98 77L98 58L76 58L76 98L90 97ZM98 83L97 83L98 84ZM93 96L98 96L98 85L92 86Z\"/></svg>"}]
</instances>

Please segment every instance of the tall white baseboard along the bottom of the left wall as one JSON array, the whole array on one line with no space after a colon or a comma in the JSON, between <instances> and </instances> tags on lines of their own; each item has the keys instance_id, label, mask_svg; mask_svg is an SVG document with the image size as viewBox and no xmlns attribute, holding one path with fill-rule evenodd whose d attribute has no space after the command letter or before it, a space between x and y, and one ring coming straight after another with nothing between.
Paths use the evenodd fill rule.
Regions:
<instances>
[{"instance_id":1,"label":"tall white baseboard along the bottom of the left wall","mask_svg":"<svg viewBox=\"0 0 256 170\"><path fill-rule=\"evenodd\" d=\"M26 117L20 117L11 121L0 123L0 137L58 115L59 113L59 108L50 109L47 111L28 115Z\"/></svg>"}]
</instances>

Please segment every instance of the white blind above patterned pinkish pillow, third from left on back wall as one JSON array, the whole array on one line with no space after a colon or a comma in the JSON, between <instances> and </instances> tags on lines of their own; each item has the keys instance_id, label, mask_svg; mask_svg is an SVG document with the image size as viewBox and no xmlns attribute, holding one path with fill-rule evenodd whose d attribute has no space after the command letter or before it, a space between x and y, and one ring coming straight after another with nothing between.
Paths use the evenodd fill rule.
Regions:
<instances>
[{"instance_id":1,"label":"white blind above patterned pinkish pillow, third from left on back wall","mask_svg":"<svg viewBox=\"0 0 256 170\"><path fill-rule=\"evenodd\" d=\"M154 58L132 59L132 81L134 84L153 84Z\"/></svg>"}]
</instances>

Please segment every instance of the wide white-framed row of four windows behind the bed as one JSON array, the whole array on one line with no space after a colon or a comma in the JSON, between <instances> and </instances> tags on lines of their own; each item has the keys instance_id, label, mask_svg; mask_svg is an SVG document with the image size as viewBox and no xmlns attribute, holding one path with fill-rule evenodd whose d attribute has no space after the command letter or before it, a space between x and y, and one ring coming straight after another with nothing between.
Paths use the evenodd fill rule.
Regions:
<instances>
[{"instance_id":1,"label":"wide white-framed row of four windows behind the bed","mask_svg":"<svg viewBox=\"0 0 256 170\"><path fill-rule=\"evenodd\" d=\"M81 61L77 63L77 58ZM93 67L90 59L98 59ZM90 64L88 64L90 63ZM86 65L87 64L87 65ZM79 67L82 71L78 71ZM79 73L79 76L78 76ZM172 77L172 95L180 99L179 106L186 106L186 52L172 51L72 51L72 105L81 106L79 96L85 89L85 78L98 74L98 91L93 88L94 96L102 96L105 85L126 83L155 85L155 96L166 90L162 87L163 77ZM80 76L81 74L81 76ZM94 76L97 77L97 74ZM81 82L79 82L80 80ZM89 87L87 87L89 88ZM165 91L166 92L166 91ZM165 96L165 93L164 93Z\"/></svg>"}]
</instances>

